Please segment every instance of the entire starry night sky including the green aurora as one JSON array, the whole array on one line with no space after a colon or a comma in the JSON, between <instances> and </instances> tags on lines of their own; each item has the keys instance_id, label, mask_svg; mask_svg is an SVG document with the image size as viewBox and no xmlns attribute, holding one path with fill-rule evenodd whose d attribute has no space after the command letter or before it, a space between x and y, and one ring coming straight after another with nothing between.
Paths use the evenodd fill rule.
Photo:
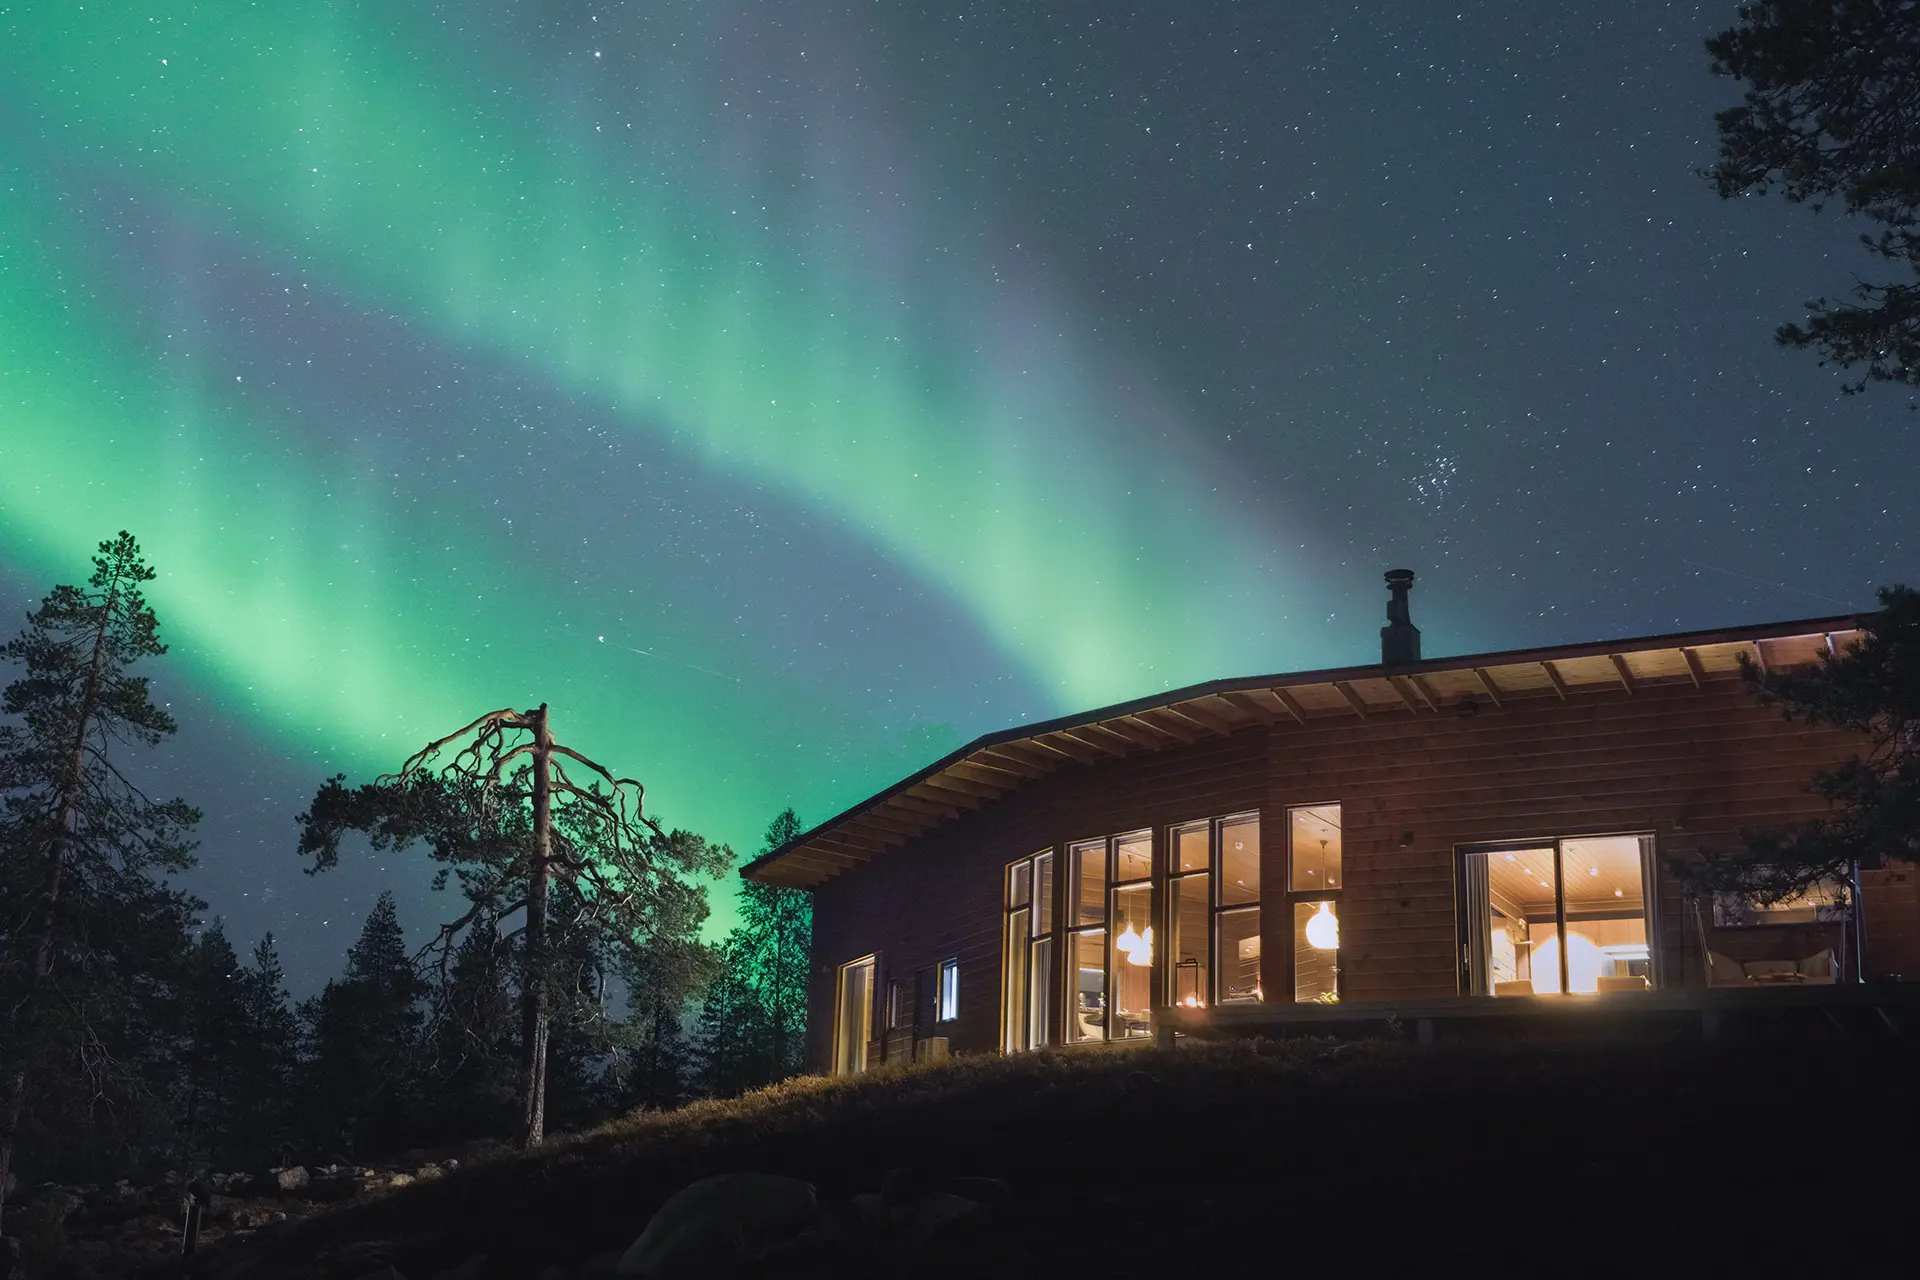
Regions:
<instances>
[{"instance_id":1,"label":"entire starry night sky including the green aurora","mask_svg":"<svg viewBox=\"0 0 1920 1280\"><path fill-rule=\"evenodd\" d=\"M1394 564L1428 654L1866 604L1910 397L1770 342L1862 257L1697 177L1732 13L0 10L0 606L142 539L142 779L305 992L451 904L294 814L495 706L751 852Z\"/></svg>"}]
</instances>

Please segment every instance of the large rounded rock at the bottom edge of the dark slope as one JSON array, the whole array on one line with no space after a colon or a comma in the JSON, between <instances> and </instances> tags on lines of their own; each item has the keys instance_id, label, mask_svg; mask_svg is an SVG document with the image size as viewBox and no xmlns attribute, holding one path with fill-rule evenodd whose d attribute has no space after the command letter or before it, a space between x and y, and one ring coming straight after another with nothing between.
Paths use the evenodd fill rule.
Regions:
<instances>
[{"instance_id":1,"label":"large rounded rock at the bottom edge of the dark slope","mask_svg":"<svg viewBox=\"0 0 1920 1280\"><path fill-rule=\"evenodd\" d=\"M722 1173L676 1192L639 1240L620 1255L616 1276L643 1280L728 1280L758 1253L799 1236L820 1219L810 1182L766 1173Z\"/></svg>"}]
</instances>

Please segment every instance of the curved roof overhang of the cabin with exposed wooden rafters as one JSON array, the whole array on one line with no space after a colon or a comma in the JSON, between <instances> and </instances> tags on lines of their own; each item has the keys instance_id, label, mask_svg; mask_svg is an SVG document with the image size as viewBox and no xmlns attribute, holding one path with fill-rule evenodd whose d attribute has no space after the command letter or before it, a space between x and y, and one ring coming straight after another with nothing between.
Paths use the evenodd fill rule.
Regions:
<instances>
[{"instance_id":1,"label":"curved roof overhang of the cabin with exposed wooden rafters","mask_svg":"<svg viewBox=\"0 0 1920 1280\"><path fill-rule=\"evenodd\" d=\"M741 875L814 889L1056 770L1223 737L1248 725L1430 716L1463 700L1505 706L1634 693L1642 685L1703 685L1736 676L1741 654L1763 670L1799 666L1836 652L1857 631L1859 618L1849 614L1188 685L979 737L755 858Z\"/></svg>"}]
</instances>

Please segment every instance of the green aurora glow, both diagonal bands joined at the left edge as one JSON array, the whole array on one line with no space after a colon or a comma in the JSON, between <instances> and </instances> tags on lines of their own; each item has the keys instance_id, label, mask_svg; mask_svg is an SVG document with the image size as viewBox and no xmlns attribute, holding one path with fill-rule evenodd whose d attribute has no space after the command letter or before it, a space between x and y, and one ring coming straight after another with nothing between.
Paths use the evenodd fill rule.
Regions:
<instances>
[{"instance_id":1,"label":"green aurora glow, both diagonal bands joined at the left edge","mask_svg":"<svg viewBox=\"0 0 1920 1280\"><path fill-rule=\"evenodd\" d=\"M98 537L140 533L175 651L225 706L342 768L390 768L478 710L545 697L672 818L733 841L824 787L814 764L768 764L791 729L687 760L699 733L814 708L764 685L607 689L570 656L578 637L524 626L589 595L486 539L455 553L459 530L409 524L330 443L182 374L108 301L100 223L63 194L83 171L829 514L958 601L1054 710L1329 656L1284 620L1306 578L1275 557L1271 514L1183 464L1152 380L1116 386L1039 286L996 288L977 259L889 271L852 217L797 253L762 225L778 211L743 217L708 190L701 148L620 121L622 152L584 107L555 125L524 94L461 90L490 81L457 52L428 81L417 42L372 13L156 0L0 17L0 121L38 134L0 140L0 537L25 568L71 574ZM588 140L557 146L563 127ZM803 203L835 200L822 178ZM876 752L831 800L900 764Z\"/></svg>"}]
</instances>

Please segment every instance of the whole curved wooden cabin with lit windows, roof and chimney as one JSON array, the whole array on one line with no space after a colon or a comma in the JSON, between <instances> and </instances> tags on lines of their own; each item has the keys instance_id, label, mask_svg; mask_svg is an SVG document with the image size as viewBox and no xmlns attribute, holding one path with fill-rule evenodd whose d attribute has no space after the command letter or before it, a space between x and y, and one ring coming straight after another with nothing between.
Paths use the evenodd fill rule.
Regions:
<instances>
[{"instance_id":1,"label":"whole curved wooden cabin with lit windows, roof and chimney","mask_svg":"<svg viewBox=\"0 0 1920 1280\"><path fill-rule=\"evenodd\" d=\"M1822 812L1809 777L1859 743L1759 706L1740 658L1812 662L1855 618L1423 660L1411 580L1377 666L993 733L749 864L812 890L810 1067L1920 975L1908 869L1757 910L1668 864Z\"/></svg>"}]
</instances>

